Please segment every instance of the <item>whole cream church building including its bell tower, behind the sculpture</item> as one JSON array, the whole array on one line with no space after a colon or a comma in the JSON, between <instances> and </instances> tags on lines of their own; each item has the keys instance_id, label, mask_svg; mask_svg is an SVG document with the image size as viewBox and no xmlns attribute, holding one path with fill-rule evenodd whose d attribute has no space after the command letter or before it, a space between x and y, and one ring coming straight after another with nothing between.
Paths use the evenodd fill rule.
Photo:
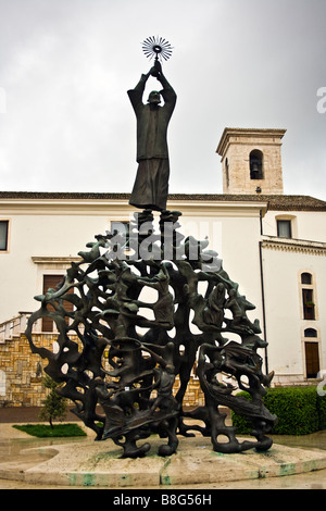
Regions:
<instances>
[{"instance_id":1,"label":"whole cream church building including its bell tower, behind the sculpture","mask_svg":"<svg viewBox=\"0 0 326 511\"><path fill-rule=\"evenodd\" d=\"M248 175L254 182L250 186L258 184L247 165L241 192L230 173L228 192L171 195L167 208L183 213L184 235L209 237L224 270L255 304L249 315L260 320L268 342L260 354L265 370L275 371L274 384L311 384L326 370L326 202L283 195L285 130L275 130L274 141L273 130L264 130L264 147L256 138L262 130L243 130L243 144L230 132L224 132L218 145L222 172L226 155L231 161L237 153L240 162L252 150L262 150L261 191L247 187ZM273 170L266 163L269 154L275 186L267 178ZM0 222L9 227L7 249L0 250L0 391L7 370L1 350L15 328L11 320L23 322L24 313L39 308L34 296L42 294L45 276L63 275L95 235L105 234L111 222L129 221L134 212L127 194L0 192ZM38 328L40 333L41 324Z\"/></svg>"}]
</instances>

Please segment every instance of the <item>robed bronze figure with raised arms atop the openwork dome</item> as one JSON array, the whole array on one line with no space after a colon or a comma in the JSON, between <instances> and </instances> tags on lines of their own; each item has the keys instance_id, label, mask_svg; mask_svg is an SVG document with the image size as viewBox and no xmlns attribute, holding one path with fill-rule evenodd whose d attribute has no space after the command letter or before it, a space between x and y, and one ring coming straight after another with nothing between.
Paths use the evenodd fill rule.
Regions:
<instances>
[{"instance_id":1,"label":"robed bronze figure with raised arms atop the openwork dome","mask_svg":"<svg viewBox=\"0 0 326 511\"><path fill-rule=\"evenodd\" d=\"M148 103L142 103L146 83L154 76L163 90L150 92ZM137 119L137 162L138 170L129 204L143 210L163 211L168 194L170 161L167 149L167 126L173 114L176 94L163 75L156 60L147 74L128 96ZM164 99L163 107L161 96Z\"/></svg>"}]
</instances>

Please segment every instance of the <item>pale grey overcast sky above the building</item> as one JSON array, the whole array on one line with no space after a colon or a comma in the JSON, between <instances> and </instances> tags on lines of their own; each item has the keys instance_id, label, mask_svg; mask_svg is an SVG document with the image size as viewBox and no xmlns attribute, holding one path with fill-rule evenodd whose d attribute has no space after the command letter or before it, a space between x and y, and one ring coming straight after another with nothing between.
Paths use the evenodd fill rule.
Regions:
<instances>
[{"instance_id":1,"label":"pale grey overcast sky above the building","mask_svg":"<svg viewBox=\"0 0 326 511\"><path fill-rule=\"evenodd\" d=\"M271 127L287 129L285 194L326 200L325 21L326 0L0 0L0 190L130 191L126 91L159 35L178 96L171 192L223 192L224 127Z\"/></svg>"}]
</instances>

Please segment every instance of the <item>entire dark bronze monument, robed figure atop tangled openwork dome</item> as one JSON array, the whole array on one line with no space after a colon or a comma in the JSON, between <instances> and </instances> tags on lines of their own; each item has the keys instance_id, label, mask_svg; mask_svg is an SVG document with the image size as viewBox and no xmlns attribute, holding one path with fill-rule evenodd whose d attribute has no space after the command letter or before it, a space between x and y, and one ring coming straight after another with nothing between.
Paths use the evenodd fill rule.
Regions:
<instances>
[{"instance_id":1,"label":"entire dark bronze monument, robed figure atop tangled openwork dome","mask_svg":"<svg viewBox=\"0 0 326 511\"><path fill-rule=\"evenodd\" d=\"M26 336L32 351L48 360L45 371L64 384L60 394L75 402L74 413L96 432L98 440L112 438L124 457L145 456L150 444L137 443L152 433L167 438L159 454L170 456L177 449L178 435L192 436L191 431L211 436L218 452L266 450L272 446L266 434L277 420L263 403L273 373L263 374L256 351L266 342L259 336L259 321L247 316L254 306L240 295L217 253L208 248L209 241L185 238L178 232L181 213L166 210L165 128L175 96L158 60L161 46L154 38L149 42L155 64L137 90L129 91L136 114L138 109L146 112L139 113L147 128L145 135L143 124L139 128L139 176L130 198L130 203L145 211L134 214L126 236L117 232L97 235L58 288L36 297L40 309L29 317ZM163 113L164 136L158 139L152 134L156 121L148 121L152 112L158 114L156 107L151 107L156 96L146 110L139 104L150 74L156 74L164 99L171 102ZM162 167L163 175L156 179ZM152 210L161 211L158 233ZM166 228L170 225L173 228ZM201 282L206 283L204 295L199 292ZM147 288L156 291L154 301L142 298ZM73 311L67 302L73 303ZM55 353L35 344L33 326L41 317L51 317L57 325ZM191 322L197 334L191 332ZM229 340L228 334L238 340ZM188 411L184 398L195 365L204 406ZM237 388L251 400L237 396ZM255 441L237 439L235 427L225 423L223 407L251 421ZM191 419L203 421L204 426L189 424ZM220 441L220 435L226 441Z\"/></svg>"}]
</instances>

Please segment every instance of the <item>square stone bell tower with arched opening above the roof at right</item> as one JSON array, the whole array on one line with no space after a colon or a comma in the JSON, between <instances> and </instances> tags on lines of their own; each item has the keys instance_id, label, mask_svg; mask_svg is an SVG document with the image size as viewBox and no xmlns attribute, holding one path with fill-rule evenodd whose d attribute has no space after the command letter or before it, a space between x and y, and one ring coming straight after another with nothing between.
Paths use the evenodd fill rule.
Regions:
<instances>
[{"instance_id":1,"label":"square stone bell tower with arched opening above the roof at right","mask_svg":"<svg viewBox=\"0 0 326 511\"><path fill-rule=\"evenodd\" d=\"M286 129L225 128L221 155L223 194L283 194L281 139Z\"/></svg>"}]
</instances>

